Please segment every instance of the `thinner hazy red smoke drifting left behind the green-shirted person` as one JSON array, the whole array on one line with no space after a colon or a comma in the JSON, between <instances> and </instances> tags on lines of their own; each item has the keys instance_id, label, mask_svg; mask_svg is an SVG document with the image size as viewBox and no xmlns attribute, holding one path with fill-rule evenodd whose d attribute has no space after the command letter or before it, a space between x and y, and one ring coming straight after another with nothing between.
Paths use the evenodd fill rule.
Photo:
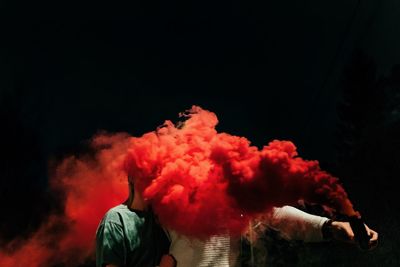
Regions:
<instances>
[{"instance_id":1,"label":"thinner hazy red smoke drifting left behind the green-shirted person","mask_svg":"<svg viewBox=\"0 0 400 267\"><path fill-rule=\"evenodd\" d=\"M50 182L65 195L64 213L51 215L27 240L1 248L0 266L78 266L93 257L99 220L128 195L126 175L119 167L127 140L123 134L96 136L94 157L71 156L59 163Z\"/></svg>"}]
</instances>

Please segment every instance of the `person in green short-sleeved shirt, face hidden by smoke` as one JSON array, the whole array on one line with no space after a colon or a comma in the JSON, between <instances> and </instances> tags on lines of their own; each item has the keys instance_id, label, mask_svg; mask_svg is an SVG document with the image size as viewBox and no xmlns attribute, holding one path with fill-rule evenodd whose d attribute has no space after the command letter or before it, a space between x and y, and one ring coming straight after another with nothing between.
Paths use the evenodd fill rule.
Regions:
<instances>
[{"instance_id":1,"label":"person in green short-sleeved shirt, face hidden by smoke","mask_svg":"<svg viewBox=\"0 0 400 267\"><path fill-rule=\"evenodd\" d=\"M129 180L129 198L111 208L96 231L97 267L174 267L169 234Z\"/></svg>"}]
</instances>

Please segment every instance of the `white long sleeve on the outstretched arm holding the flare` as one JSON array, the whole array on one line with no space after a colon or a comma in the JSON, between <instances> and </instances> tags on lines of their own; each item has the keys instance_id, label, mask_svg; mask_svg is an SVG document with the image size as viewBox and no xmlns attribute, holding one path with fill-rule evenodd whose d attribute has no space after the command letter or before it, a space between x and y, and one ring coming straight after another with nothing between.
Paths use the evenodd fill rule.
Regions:
<instances>
[{"instance_id":1,"label":"white long sleeve on the outstretched arm holding the flare","mask_svg":"<svg viewBox=\"0 0 400 267\"><path fill-rule=\"evenodd\" d=\"M326 217L312 215L290 206L274 208L267 217L268 227L280 232L287 240L305 242L323 241L322 226L329 220Z\"/></svg>"}]
</instances>

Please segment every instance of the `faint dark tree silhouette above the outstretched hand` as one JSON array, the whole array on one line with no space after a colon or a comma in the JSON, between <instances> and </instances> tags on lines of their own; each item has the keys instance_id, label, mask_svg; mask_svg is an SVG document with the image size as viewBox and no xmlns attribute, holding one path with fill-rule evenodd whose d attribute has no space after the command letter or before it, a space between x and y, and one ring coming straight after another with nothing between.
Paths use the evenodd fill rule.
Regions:
<instances>
[{"instance_id":1,"label":"faint dark tree silhouette above the outstretched hand","mask_svg":"<svg viewBox=\"0 0 400 267\"><path fill-rule=\"evenodd\" d=\"M351 196L359 200L374 179L384 124L384 79L374 60L356 50L344 70L338 106L337 171ZM365 196L365 194L364 194Z\"/></svg>"}]
</instances>

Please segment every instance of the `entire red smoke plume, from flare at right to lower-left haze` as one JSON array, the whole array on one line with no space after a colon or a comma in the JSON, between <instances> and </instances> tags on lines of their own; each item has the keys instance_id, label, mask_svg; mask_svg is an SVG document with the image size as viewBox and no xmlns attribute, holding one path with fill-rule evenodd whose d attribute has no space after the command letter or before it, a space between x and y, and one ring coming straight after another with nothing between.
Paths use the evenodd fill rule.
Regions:
<instances>
[{"instance_id":1,"label":"entire red smoke plume, from flare at right to lower-left haze","mask_svg":"<svg viewBox=\"0 0 400 267\"><path fill-rule=\"evenodd\" d=\"M194 106L181 115L184 123L166 121L141 137L98 135L94 157L58 164L52 187L65 193L65 214L0 251L0 266L76 266L92 256L96 227L127 197L128 175L162 224L198 238L239 235L252 218L299 199L357 214L337 178L298 157L293 143L275 140L259 150L218 133L212 112Z\"/></svg>"}]
</instances>

